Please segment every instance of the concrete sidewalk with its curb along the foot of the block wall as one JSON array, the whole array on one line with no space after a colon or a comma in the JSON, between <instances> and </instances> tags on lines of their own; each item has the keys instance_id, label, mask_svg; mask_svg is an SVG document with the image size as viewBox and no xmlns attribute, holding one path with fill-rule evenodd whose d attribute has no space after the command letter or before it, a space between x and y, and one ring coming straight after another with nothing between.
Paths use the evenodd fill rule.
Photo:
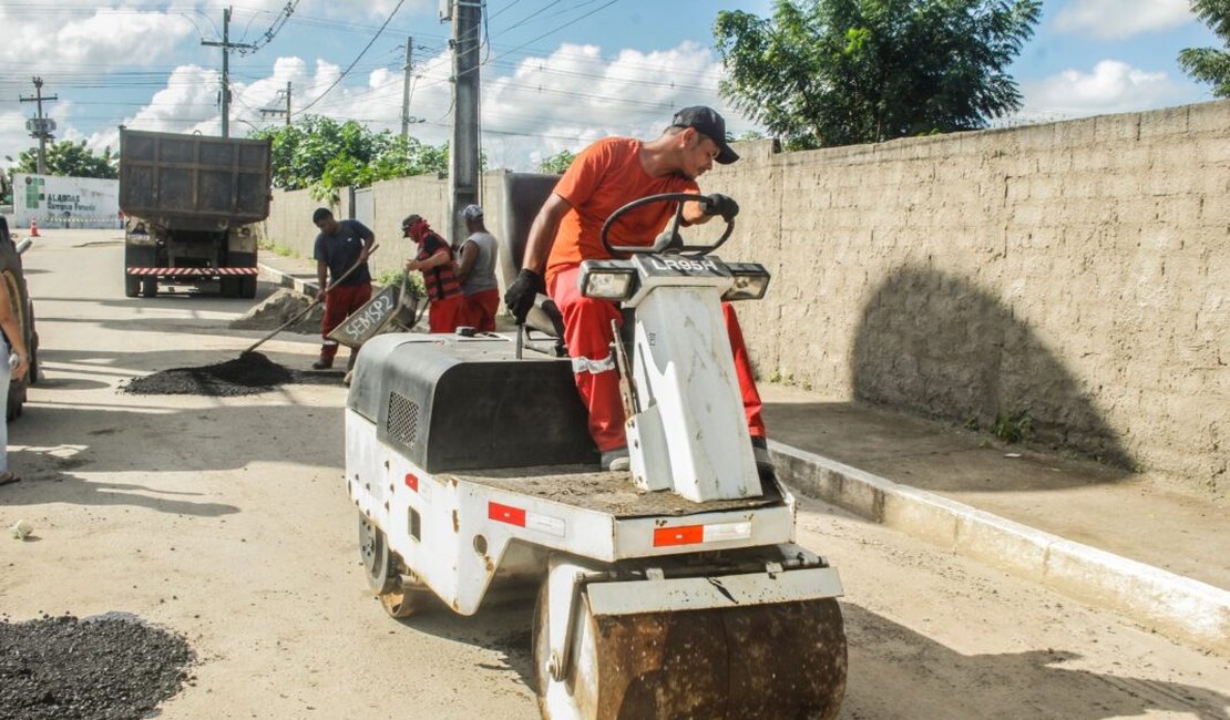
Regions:
<instances>
[{"instance_id":1,"label":"concrete sidewalk with its curb along the foot of the block wall","mask_svg":"<svg viewBox=\"0 0 1230 720\"><path fill-rule=\"evenodd\" d=\"M315 263L262 279L315 292ZM908 415L764 383L770 450L802 491L1230 655L1230 501Z\"/></svg>"}]
</instances>

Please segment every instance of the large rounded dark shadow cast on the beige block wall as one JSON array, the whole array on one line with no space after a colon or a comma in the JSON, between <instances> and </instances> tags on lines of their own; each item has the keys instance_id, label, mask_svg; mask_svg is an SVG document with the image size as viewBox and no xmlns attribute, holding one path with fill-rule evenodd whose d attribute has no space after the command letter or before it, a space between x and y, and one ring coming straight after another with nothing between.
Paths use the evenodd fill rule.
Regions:
<instances>
[{"instance_id":1,"label":"large rounded dark shadow cast on the beige block wall","mask_svg":"<svg viewBox=\"0 0 1230 720\"><path fill-rule=\"evenodd\" d=\"M1111 464L1135 464L1092 398L1011 307L932 269L895 270L863 307L854 392L875 405L982 431L999 425Z\"/></svg>"}]
</instances>

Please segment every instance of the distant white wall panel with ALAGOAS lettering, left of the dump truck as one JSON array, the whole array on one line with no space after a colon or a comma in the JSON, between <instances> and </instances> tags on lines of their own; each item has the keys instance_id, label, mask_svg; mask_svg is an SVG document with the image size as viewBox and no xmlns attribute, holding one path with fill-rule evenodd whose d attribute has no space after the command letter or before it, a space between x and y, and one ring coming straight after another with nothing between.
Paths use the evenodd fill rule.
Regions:
<instances>
[{"instance_id":1,"label":"distant white wall panel with ALAGOAS lettering, left of the dump truck","mask_svg":"<svg viewBox=\"0 0 1230 720\"><path fill-rule=\"evenodd\" d=\"M92 177L15 174L12 219L16 227L121 227L119 181Z\"/></svg>"}]
</instances>

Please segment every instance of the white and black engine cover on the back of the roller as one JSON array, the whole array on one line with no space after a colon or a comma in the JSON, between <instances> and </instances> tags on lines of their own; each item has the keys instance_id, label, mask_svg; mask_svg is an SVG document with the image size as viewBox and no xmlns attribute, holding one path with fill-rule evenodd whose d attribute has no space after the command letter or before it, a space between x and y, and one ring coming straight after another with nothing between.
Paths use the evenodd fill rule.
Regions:
<instances>
[{"instance_id":1,"label":"white and black engine cover on the back of the roller","mask_svg":"<svg viewBox=\"0 0 1230 720\"><path fill-rule=\"evenodd\" d=\"M597 463L567 359L518 360L506 335L364 343L347 405L427 472Z\"/></svg>"}]
</instances>

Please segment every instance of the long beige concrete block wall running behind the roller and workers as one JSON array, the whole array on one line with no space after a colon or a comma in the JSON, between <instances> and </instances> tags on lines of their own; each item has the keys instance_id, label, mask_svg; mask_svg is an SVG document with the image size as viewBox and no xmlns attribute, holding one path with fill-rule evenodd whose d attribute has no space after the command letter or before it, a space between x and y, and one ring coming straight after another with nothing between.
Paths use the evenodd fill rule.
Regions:
<instances>
[{"instance_id":1,"label":"long beige concrete block wall running behind the roller and workers","mask_svg":"<svg viewBox=\"0 0 1230 720\"><path fill-rule=\"evenodd\" d=\"M718 254L774 274L739 307L761 380L1230 491L1230 102L739 152L701 187L743 208ZM410 211L448 227L446 181L375 193L381 240ZM293 195L274 215L310 256Z\"/></svg>"}]
</instances>

